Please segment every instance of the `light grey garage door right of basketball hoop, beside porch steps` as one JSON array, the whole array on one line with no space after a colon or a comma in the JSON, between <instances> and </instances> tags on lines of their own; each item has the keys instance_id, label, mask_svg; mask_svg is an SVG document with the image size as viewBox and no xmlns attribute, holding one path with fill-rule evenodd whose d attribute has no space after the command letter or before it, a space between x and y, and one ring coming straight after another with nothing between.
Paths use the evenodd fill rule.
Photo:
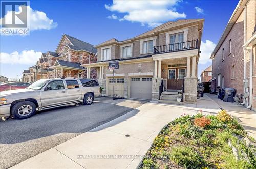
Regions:
<instances>
[{"instance_id":1,"label":"light grey garage door right of basketball hoop, beside porch steps","mask_svg":"<svg viewBox=\"0 0 256 169\"><path fill-rule=\"evenodd\" d=\"M136 99L152 98L152 78L151 77L132 77L130 87L130 97Z\"/></svg>"}]
</instances>

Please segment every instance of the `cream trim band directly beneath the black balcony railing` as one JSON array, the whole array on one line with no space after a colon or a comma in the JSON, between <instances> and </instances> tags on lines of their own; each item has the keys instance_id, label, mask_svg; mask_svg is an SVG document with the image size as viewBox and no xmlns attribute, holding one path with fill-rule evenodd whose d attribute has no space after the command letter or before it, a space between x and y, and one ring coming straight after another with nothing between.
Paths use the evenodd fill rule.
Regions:
<instances>
[{"instance_id":1,"label":"cream trim band directly beneath the black balcony railing","mask_svg":"<svg viewBox=\"0 0 256 169\"><path fill-rule=\"evenodd\" d=\"M198 54L198 49L193 49L193 50L185 50L185 51L178 51L178 52L171 52L171 53L154 54L152 55L152 58L153 58L153 61L155 61L155 60L192 57L197 54Z\"/></svg>"}]
</instances>

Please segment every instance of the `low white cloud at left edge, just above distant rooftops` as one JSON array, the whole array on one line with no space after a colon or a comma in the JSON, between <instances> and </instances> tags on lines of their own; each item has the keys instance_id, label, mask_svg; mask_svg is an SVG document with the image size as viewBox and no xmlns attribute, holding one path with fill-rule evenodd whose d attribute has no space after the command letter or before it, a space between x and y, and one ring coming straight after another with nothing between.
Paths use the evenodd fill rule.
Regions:
<instances>
[{"instance_id":1,"label":"low white cloud at left edge, just above distant rooftops","mask_svg":"<svg viewBox=\"0 0 256 169\"><path fill-rule=\"evenodd\" d=\"M42 53L34 50L24 50L21 53L14 51L12 53L0 53L1 64L20 64L20 65L31 65L35 64L36 61L41 57Z\"/></svg>"}]
</instances>

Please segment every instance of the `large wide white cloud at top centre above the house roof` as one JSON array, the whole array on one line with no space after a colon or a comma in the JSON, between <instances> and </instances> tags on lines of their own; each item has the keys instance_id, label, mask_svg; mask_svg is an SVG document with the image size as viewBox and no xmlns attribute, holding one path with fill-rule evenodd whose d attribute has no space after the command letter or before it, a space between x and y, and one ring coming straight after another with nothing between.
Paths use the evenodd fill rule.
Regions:
<instances>
[{"instance_id":1,"label":"large wide white cloud at top centre above the house roof","mask_svg":"<svg viewBox=\"0 0 256 169\"><path fill-rule=\"evenodd\" d=\"M117 1L106 5L105 8L114 12L125 13L119 21L127 20L131 22L140 22L141 25L156 27L163 22L185 18L186 14L176 11L175 6L181 0L154 0L154 1ZM119 18L119 17L118 17Z\"/></svg>"}]
</instances>

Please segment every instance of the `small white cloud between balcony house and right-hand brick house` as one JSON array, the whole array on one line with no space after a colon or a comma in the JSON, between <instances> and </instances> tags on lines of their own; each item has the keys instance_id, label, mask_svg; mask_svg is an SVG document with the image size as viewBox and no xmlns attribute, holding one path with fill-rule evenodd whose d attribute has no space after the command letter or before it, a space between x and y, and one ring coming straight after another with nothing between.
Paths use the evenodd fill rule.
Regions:
<instances>
[{"instance_id":1,"label":"small white cloud between balcony house and right-hand brick house","mask_svg":"<svg viewBox=\"0 0 256 169\"><path fill-rule=\"evenodd\" d=\"M214 42L211 42L210 40L206 40L205 43L201 41L201 54L199 59L200 64L206 64L207 62L211 62L210 55L214 50L215 46L216 44Z\"/></svg>"}]
</instances>

